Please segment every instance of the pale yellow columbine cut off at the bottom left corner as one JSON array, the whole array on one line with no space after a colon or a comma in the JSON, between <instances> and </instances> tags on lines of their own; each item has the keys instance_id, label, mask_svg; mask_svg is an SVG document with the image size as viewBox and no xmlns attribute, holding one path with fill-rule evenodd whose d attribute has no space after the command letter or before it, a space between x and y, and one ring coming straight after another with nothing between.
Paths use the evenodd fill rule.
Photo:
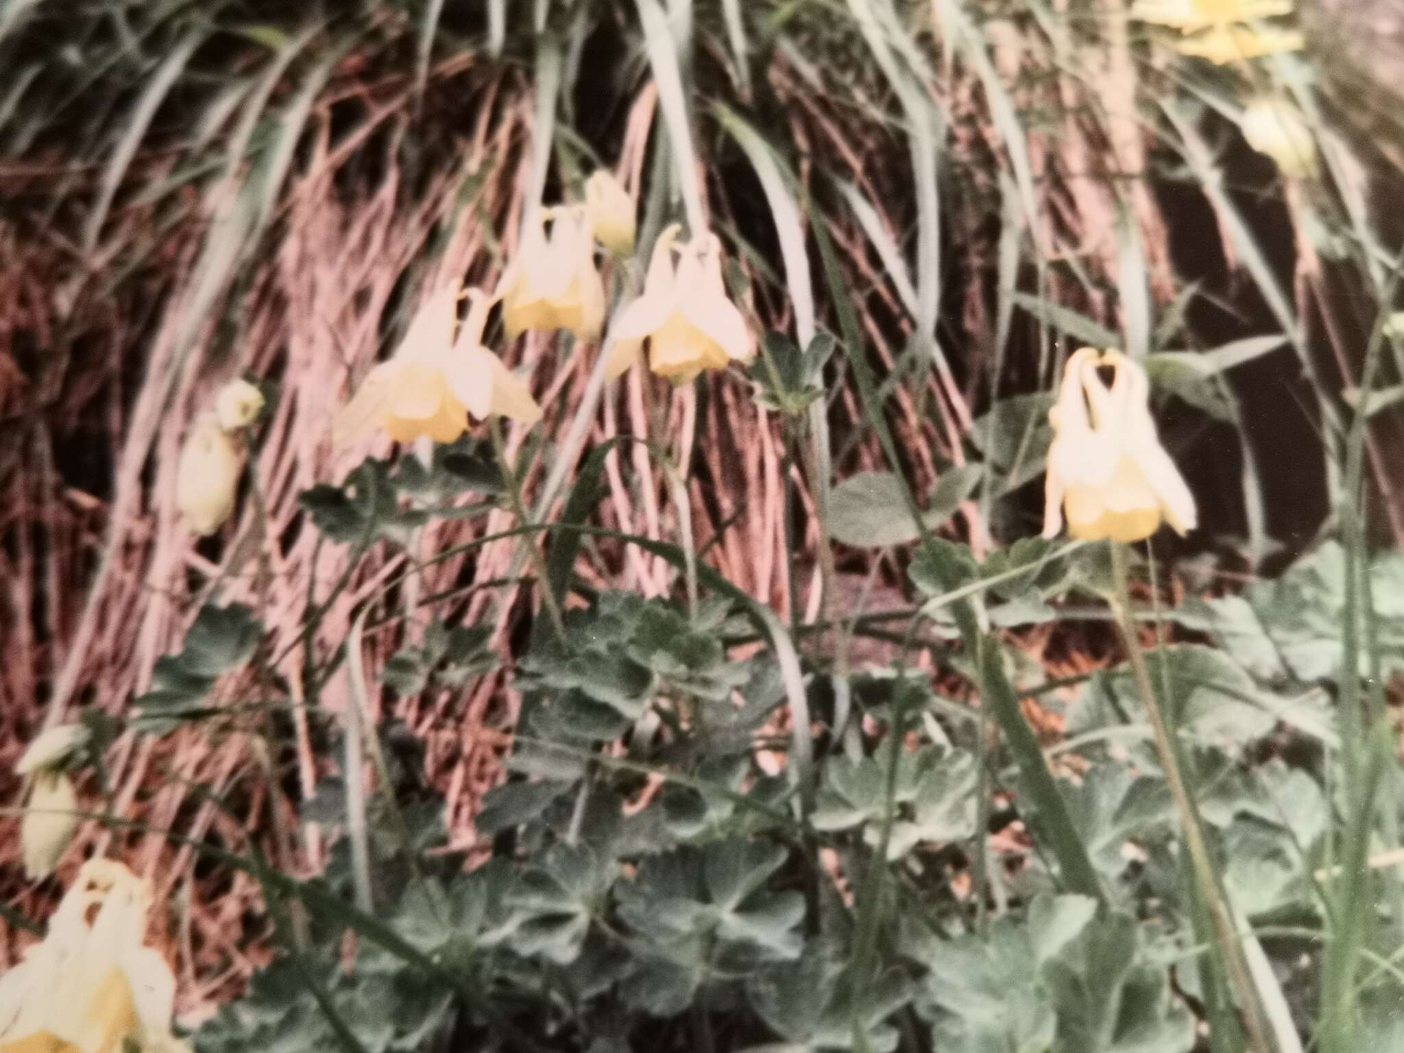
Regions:
<instances>
[{"instance_id":1,"label":"pale yellow columbine cut off at the bottom left corner","mask_svg":"<svg viewBox=\"0 0 1404 1053\"><path fill-rule=\"evenodd\" d=\"M176 1053L176 977L143 946L150 886L88 859L44 942L0 976L0 1053Z\"/></svg>"}]
</instances>

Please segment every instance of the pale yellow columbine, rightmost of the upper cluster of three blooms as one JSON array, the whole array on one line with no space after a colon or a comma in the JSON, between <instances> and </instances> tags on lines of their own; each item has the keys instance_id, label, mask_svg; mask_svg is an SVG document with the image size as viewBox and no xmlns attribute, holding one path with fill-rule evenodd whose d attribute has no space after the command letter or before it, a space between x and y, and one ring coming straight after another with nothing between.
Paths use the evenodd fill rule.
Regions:
<instances>
[{"instance_id":1,"label":"pale yellow columbine, rightmost of the upper cluster of three blooms","mask_svg":"<svg viewBox=\"0 0 1404 1053\"><path fill-rule=\"evenodd\" d=\"M643 295L623 309L609 331L609 379L637 361L644 341L649 368L680 385L703 369L726 369L755 355L746 319L726 295L722 243L716 234L699 234L678 246L680 229L674 223L658 234Z\"/></svg>"}]
</instances>

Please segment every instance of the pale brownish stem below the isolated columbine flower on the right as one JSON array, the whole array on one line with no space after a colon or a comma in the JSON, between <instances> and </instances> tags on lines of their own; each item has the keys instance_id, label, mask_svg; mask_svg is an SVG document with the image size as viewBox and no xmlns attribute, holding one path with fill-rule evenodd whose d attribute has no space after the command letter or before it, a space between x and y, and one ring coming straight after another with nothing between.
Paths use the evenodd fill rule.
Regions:
<instances>
[{"instance_id":1,"label":"pale brownish stem below the isolated columbine flower on the right","mask_svg":"<svg viewBox=\"0 0 1404 1053\"><path fill-rule=\"evenodd\" d=\"M1258 988L1252 981L1248 959L1238 938L1238 927L1234 922L1228 900L1214 872L1214 863L1209 854L1209 842L1199 821L1199 812L1185 782L1184 765L1179 762L1179 746L1170 722L1165 719L1165 712L1161 709L1160 699L1155 696L1150 670L1146 665L1146 654L1141 651L1140 640L1136 636L1136 622L1132 618L1126 546L1120 542L1108 542L1108 545L1112 552L1112 581L1115 591L1111 601L1116 629L1126 647L1136 680L1136 691L1146 706L1146 716L1154 733L1155 753L1160 755L1160 765L1165 772L1165 783L1170 786L1170 795L1179 816L1179 826L1184 830L1191 870L1195 883L1199 886L1205 908L1209 913L1209 921L1213 925L1216 936L1214 949L1221 956L1224 972L1237 997L1247 1032L1248 1049L1252 1053L1273 1053L1276 1046L1272 1042L1272 1032L1262 1011ZM1165 701L1168 702L1170 699Z\"/></svg>"}]
</instances>

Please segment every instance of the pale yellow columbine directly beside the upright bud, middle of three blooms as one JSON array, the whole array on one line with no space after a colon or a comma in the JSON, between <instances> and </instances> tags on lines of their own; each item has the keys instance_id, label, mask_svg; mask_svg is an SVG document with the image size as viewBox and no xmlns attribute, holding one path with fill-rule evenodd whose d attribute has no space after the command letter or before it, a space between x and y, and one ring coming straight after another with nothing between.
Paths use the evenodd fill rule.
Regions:
<instances>
[{"instance_id":1,"label":"pale yellow columbine directly beside the upright bud, middle of three blooms","mask_svg":"<svg viewBox=\"0 0 1404 1053\"><path fill-rule=\"evenodd\" d=\"M529 329L569 329L577 340L597 341L605 322L605 286L595 270L590 211L562 205L529 216L500 295L508 340Z\"/></svg>"}]
</instances>

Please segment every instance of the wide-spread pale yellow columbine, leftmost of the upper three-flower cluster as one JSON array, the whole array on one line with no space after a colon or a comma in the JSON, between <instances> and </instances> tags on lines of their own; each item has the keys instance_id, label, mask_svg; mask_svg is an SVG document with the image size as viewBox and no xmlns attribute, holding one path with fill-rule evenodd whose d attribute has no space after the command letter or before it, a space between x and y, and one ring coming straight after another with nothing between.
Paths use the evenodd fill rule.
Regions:
<instances>
[{"instance_id":1,"label":"wide-spread pale yellow columbine, leftmost of the upper three-flower cluster","mask_svg":"<svg viewBox=\"0 0 1404 1053\"><path fill-rule=\"evenodd\" d=\"M535 424L541 407L531 388L483 347L483 327L493 300L482 289L469 289L468 317L453 327L458 293L446 286L420 309L388 362L375 366L355 397L331 425L333 442L345 445L369 428L382 427L396 442L428 435L452 442L468 431L472 414L491 414Z\"/></svg>"}]
</instances>

